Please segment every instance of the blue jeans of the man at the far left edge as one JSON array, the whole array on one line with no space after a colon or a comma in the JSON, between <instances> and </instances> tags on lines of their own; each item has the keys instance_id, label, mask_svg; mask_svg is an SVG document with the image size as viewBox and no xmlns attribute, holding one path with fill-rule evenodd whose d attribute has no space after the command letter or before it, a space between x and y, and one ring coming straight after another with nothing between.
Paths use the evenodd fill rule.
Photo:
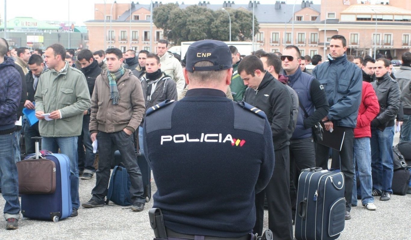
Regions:
<instances>
[{"instance_id":1,"label":"blue jeans of the man at the far left edge","mask_svg":"<svg viewBox=\"0 0 411 240\"><path fill-rule=\"evenodd\" d=\"M0 178L2 195L6 200L4 206L5 219L20 218L20 202L18 201L18 174L16 162L20 161L20 147L17 132L0 135Z\"/></svg>"}]
</instances>

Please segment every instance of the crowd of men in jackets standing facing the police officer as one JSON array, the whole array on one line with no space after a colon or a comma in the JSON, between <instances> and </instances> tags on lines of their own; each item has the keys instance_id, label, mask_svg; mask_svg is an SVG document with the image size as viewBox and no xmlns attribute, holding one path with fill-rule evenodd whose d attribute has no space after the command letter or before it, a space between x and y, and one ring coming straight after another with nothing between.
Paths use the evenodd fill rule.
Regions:
<instances>
[{"instance_id":1,"label":"crowd of men in jackets standing facing the police officer","mask_svg":"<svg viewBox=\"0 0 411 240\"><path fill-rule=\"evenodd\" d=\"M318 122L322 122L324 131L339 127L345 132L342 148L332 160L345 176L345 219L351 218L351 207L357 205L357 199L367 209L375 210L374 196L387 201L393 193L396 126L402 125L400 142L411 138L411 53L402 54L402 67L393 79L388 59L353 57L350 62L346 48L344 36L332 36L330 54L323 61L320 55L301 56L294 45L286 46L282 53L259 50L248 56L229 46L232 68L219 65L214 69L208 63L220 60L205 58L194 65L191 56L186 56L180 62L167 51L165 40L158 41L156 53L109 48L95 52L82 49L76 54L53 44L44 53L36 50L30 54L28 48L9 51L7 41L0 39L0 167L6 229L17 229L20 217L15 163L20 160L21 127L15 122L23 107L35 110L39 119L33 125L23 123L25 152L34 153L31 137L42 136L41 149L60 150L70 159L72 217L80 206L79 178L96 175L92 197L81 206L104 206L115 149L120 151L130 176L131 209L142 211L145 198L134 149L139 148L147 159L146 151L152 156L160 154L146 145L150 140L143 132L147 127L159 127L147 122L150 118L146 118L146 110L160 108L165 100L180 102L198 95L196 88L208 88L211 85L206 80L222 77L219 73L227 69L231 69L224 75L228 88L218 89L230 100L263 111L272 135L270 151L275 165L269 181L256 191L254 233L261 235L263 231L266 199L274 239L293 239L299 173L306 168L328 169L330 149L313 137L312 128ZM10 57L13 54L14 59ZM202 71L207 75L201 75ZM190 82L190 77L205 82ZM188 100L185 106L193 107ZM50 113L52 120L46 120L45 113ZM95 140L97 171L93 165ZM156 174L156 164L152 164ZM360 181L359 187L356 181ZM159 181L159 189L162 183ZM161 202L166 197L157 195L157 199Z\"/></svg>"}]
</instances>

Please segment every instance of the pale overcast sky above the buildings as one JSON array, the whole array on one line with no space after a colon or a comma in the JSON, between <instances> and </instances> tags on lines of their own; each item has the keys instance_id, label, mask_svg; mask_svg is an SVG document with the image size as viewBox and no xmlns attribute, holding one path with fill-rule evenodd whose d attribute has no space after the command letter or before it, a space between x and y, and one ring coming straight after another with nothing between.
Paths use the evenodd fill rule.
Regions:
<instances>
[{"instance_id":1,"label":"pale overcast sky above the buildings","mask_svg":"<svg viewBox=\"0 0 411 240\"><path fill-rule=\"evenodd\" d=\"M0 1L0 17L4 19L4 6L6 0ZM157 0L158 2L176 2L176 0ZM202 0L201 2L203 2ZM274 0L259 0L261 4L272 4ZM282 0L284 1L284 0ZM342 0L341 0L342 1ZM355 1L355 0L351 0ZM130 0L117 0L117 3L130 3ZM150 4L149 0L134 0L141 4ZM197 4L199 0L178 0L185 4ZM211 4L221 4L224 0L206 0ZM236 4L248 4L249 0L235 0ZM300 3L301 0L286 0L288 4ZM321 0L313 0L314 4L319 4ZM82 26L84 21L94 18L95 3L104 3L104 0L7 0L7 19L15 17L32 17L38 20L60 20L75 22ZM106 4L111 5L113 0L106 0ZM70 8L70 11L69 11Z\"/></svg>"}]
</instances>

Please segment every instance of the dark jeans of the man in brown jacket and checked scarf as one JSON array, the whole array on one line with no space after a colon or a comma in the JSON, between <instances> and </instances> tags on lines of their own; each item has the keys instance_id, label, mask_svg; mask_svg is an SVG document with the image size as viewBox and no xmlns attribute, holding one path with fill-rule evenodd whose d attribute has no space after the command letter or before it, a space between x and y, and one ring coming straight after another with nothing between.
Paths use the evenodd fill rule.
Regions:
<instances>
[{"instance_id":1,"label":"dark jeans of the man in brown jacket and checked scarf","mask_svg":"<svg viewBox=\"0 0 411 240\"><path fill-rule=\"evenodd\" d=\"M99 168L96 171L96 186L91 194L92 199L103 203L107 195L107 187L110 181L111 161L114 158L114 147L117 147L123 158L123 164L130 176L131 187L130 196L132 202L145 203L143 196L143 178L137 164L137 156L134 151L133 135L128 135L125 131L106 133L99 131L97 134L97 148L99 150Z\"/></svg>"}]
</instances>

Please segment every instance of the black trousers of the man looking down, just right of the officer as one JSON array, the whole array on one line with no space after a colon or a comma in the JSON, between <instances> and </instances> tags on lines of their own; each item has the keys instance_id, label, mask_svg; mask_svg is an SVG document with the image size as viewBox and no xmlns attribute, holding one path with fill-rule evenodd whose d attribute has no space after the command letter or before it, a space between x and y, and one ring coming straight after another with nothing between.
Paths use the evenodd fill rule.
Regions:
<instances>
[{"instance_id":1,"label":"black trousers of the man looking down, just right of the officer","mask_svg":"<svg viewBox=\"0 0 411 240\"><path fill-rule=\"evenodd\" d=\"M264 196L268 203L268 229L273 233L273 239L293 239L293 222L290 203L290 152L289 147L274 151L274 172L266 188L256 194L256 224L253 232L259 235L263 232Z\"/></svg>"}]
</instances>

